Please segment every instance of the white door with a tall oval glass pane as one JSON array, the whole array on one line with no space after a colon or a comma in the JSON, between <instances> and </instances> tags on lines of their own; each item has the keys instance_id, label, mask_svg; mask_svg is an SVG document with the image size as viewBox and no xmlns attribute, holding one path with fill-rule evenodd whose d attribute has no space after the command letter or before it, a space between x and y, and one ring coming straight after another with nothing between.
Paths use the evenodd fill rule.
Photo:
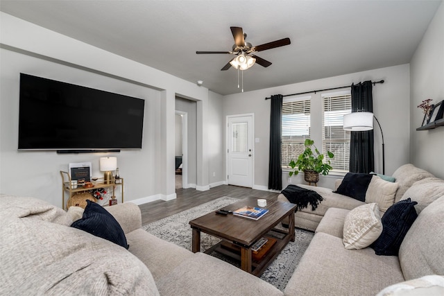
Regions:
<instances>
[{"instance_id":1,"label":"white door with a tall oval glass pane","mask_svg":"<svg viewBox=\"0 0 444 296\"><path fill-rule=\"evenodd\" d=\"M228 116L228 184L253 187L253 115Z\"/></svg>"}]
</instances>

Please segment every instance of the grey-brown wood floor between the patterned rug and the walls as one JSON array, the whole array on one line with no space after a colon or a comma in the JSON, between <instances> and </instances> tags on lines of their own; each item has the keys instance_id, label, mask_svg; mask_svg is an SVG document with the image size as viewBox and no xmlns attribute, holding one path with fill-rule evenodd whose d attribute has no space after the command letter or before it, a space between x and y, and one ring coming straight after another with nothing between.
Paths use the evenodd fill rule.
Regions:
<instances>
[{"instance_id":1,"label":"grey-brown wood floor between the patterned rug and the walls","mask_svg":"<svg viewBox=\"0 0 444 296\"><path fill-rule=\"evenodd\" d=\"M186 209L197 207L199 204L229 196L230 198L278 198L279 193L269 191L255 190L245 187L221 185L213 187L207 191L197 191L196 189L176 189L176 200L156 200L139 205L142 211L142 225L146 225L173 214L177 214Z\"/></svg>"}]
</instances>

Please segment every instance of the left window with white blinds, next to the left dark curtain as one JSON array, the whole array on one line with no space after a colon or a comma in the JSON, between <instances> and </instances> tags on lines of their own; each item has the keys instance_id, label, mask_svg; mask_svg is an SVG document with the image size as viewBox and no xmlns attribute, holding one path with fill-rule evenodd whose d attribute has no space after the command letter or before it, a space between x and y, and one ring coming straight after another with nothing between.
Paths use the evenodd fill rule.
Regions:
<instances>
[{"instance_id":1,"label":"left window with white blinds, next to the left dark curtain","mask_svg":"<svg viewBox=\"0 0 444 296\"><path fill-rule=\"evenodd\" d=\"M304 151L304 141L310 138L310 99L284 98L282 102L282 166Z\"/></svg>"}]
</instances>

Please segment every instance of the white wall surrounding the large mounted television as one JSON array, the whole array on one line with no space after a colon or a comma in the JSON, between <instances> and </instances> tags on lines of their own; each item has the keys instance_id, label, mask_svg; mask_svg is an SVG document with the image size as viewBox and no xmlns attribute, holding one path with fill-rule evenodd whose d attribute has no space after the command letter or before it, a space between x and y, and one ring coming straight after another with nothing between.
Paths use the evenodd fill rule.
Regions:
<instances>
[{"instance_id":1,"label":"white wall surrounding the large mounted television","mask_svg":"<svg viewBox=\"0 0 444 296\"><path fill-rule=\"evenodd\" d=\"M70 162L92 162L93 175L99 173L100 154L17 151L19 72L24 71L146 99L142 150L115 155L125 179L125 200L175 198L175 98L179 95L209 105L208 89L3 12L0 22L0 192L31 195L61 206L60 170L66 170ZM206 117L200 118L205 123ZM202 130L197 137L204 138ZM208 171L204 167L208 144L200 149L198 171ZM200 177L198 182L207 179Z\"/></svg>"}]
</instances>

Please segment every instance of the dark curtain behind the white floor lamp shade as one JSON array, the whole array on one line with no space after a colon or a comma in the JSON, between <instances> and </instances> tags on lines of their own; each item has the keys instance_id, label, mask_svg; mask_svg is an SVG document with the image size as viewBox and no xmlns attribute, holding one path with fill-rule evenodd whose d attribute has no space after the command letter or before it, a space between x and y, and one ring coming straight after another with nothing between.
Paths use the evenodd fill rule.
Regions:
<instances>
[{"instance_id":1,"label":"dark curtain behind the white floor lamp shade","mask_svg":"<svg viewBox=\"0 0 444 296\"><path fill-rule=\"evenodd\" d=\"M372 82L352 84L352 112L373 112ZM370 173L375 171L373 130L351 132L350 172Z\"/></svg>"}]
</instances>

